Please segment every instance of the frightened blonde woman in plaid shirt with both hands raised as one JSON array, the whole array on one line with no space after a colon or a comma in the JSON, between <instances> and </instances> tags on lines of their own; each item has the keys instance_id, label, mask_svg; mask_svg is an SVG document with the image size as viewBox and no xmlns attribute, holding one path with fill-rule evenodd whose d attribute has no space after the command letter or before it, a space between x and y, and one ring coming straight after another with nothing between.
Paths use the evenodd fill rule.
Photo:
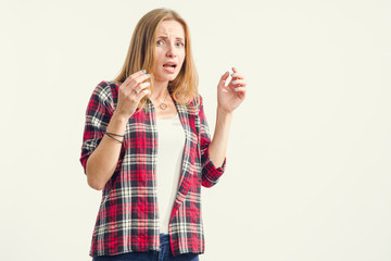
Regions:
<instances>
[{"instance_id":1,"label":"frightened blonde woman in plaid shirt with both hands raised","mask_svg":"<svg viewBox=\"0 0 391 261\"><path fill-rule=\"evenodd\" d=\"M211 140L186 22L166 9L139 21L121 74L97 86L87 109L80 162L89 186L103 190L93 260L199 260L201 185L223 174L232 112L245 96L232 71L217 86Z\"/></svg>"}]
</instances>

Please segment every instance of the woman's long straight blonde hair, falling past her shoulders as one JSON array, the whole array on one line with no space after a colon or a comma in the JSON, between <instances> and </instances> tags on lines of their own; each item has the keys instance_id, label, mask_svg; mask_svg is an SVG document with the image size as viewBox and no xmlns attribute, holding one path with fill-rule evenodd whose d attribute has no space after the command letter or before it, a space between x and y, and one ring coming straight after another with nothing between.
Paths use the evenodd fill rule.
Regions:
<instances>
[{"instance_id":1,"label":"woman's long straight blonde hair, falling past her shoulders","mask_svg":"<svg viewBox=\"0 0 391 261\"><path fill-rule=\"evenodd\" d=\"M147 73L151 75L151 92L153 91L153 72L156 66L156 28L163 21L171 20L178 22L184 27L186 55L179 74L169 83L169 91L179 104L189 104L194 99L198 104L200 100L198 73L191 54L189 27L177 12L169 9L155 9L141 17L133 34L124 66L114 80L124 83L129 75L140 70L147 70ZM147 98L144 97L138 108L142 109L146 101Z\"/></svg>"}]
</instances>

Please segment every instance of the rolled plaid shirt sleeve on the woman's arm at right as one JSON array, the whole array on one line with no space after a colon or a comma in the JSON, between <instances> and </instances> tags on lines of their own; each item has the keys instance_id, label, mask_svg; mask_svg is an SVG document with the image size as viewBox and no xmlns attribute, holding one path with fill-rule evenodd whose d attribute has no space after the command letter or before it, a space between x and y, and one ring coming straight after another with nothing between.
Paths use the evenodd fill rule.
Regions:
<instances>
[{"instance_id":1,"label":"rolled plaid shirt sleeve on the woman's arm at right","mask_svg":"<svg viewBox=\"0 0 391 261\"><path fill-rule=\"evenodd\" d=\"M203 102L201 96L198 121L200 124L199 139L202 163L202 186L212 187L218 182L219 177L223 175L226 166L226 159L224 159L223 165L219 167L216 167L210 159L209 146L211 144L211 135L203 110Z\"/></svg>"}]
</instances>

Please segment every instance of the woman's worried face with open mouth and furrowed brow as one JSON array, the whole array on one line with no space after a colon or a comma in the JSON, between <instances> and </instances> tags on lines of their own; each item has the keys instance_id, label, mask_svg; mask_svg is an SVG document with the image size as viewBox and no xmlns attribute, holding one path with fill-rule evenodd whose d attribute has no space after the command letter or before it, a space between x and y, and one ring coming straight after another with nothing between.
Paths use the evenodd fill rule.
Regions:
<instances>
[{"instance_id":1,"label":"woman's worried face with open mouth and furrowed brow","mask_svg":"<svg viewBox=\"0 0 391 261\"><path fill-rule=\"evenodd\" d=\"M185 61L185 30L174 20L162 22L156 29L156 84L168 84L176 78Z\"/></svg>"}]
</instances>

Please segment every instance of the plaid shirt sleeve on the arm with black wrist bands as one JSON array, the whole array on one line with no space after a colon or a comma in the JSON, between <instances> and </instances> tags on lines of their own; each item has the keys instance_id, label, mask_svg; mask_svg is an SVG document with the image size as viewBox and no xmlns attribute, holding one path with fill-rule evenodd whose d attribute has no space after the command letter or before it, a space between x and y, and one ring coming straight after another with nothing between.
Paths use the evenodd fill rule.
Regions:
<instances>
[{"instance_id":1,"label":"plaid shirt sleeve on the arm with black wrist bands","mask_svg":"<svg viewBox=\"0 0 391 261\"><path fill-rule=\"evenodd\" d=\"M111 87L106 82L101 82L93 90L86 111L80 157L85 173L87 160L102 140L112 114Z\"/></svg>"}]
</instances>

